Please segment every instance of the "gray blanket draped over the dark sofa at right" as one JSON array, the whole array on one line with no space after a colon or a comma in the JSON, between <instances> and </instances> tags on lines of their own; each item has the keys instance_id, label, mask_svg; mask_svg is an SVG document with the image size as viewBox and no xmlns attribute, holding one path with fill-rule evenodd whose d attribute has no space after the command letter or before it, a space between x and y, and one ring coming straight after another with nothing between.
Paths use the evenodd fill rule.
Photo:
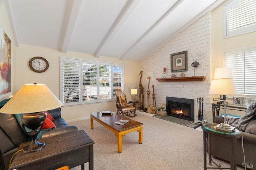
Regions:
<instances>
[{"instance_id":1,"label":"gray blanket draped over the dark sofa at right","mask_svg":"<svg viewBox=\"0 0 256 170\"><path fill-rule=\"evenodd\" d=\"M232 117L227 116L227 123L231 126L236 127L239 131L244 132L246 126L253 120L256 119L256 101L254 101L245 111L243 117Z\"/></svg>"}]
</instances>

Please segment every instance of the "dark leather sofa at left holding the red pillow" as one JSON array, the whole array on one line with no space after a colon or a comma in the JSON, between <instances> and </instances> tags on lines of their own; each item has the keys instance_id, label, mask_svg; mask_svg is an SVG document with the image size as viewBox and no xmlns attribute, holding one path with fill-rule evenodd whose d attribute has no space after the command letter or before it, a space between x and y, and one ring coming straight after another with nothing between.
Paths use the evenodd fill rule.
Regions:
<instances>
[{"instance_id":1,"label":"dark leather sofa at left holding the red pillow","mask_svg":"<svg viewBox=\"0 0 256 170\"><path fill-rule=\"evenodd\" d=\"M53 123L56 129L51 129L42 133L42 138L77 131L76 126L69 126L61 118L61 109L48 110L48 113L54 118ZM21 143L27 142L29 136L23 131L13 114L0 113L0 170L8 170L11 157L18 150Z\"/></svg>"}]
</instances>

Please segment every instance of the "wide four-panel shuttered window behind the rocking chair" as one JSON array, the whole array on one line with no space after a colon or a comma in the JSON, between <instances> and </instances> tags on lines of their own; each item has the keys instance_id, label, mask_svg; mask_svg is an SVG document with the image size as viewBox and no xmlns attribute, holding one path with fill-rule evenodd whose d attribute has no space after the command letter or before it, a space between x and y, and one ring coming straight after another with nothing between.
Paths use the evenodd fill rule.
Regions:
<instances>
[{"instance_id":1,"label":"wide four-panel shuttered window behind the rocking chair","mask_svg":"<svg viewBox=\"0 0 256 170\"><path fill-rule=\"evenodd\" d=\"M112 101L124 87L124 65L60 58L61 102L66 105Z\"/></svg>"}]
</instances>

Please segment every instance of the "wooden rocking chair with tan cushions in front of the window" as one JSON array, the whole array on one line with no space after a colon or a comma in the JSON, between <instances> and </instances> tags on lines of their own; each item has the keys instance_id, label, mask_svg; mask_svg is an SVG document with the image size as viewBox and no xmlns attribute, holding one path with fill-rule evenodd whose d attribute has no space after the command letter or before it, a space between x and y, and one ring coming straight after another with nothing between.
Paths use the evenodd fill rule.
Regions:
<instances>
[{"instance_id":1,"label":"wooden rocking chair with tan cushions in front of the window","mask_svg":"<svg viewBox=\"0 0 256 170\"><path fill-rule=\"evenodd\" d=\"M117 113L122 114L124 116L124 113L129 117L135 117L136 116L136 110L132 103L127 103L126 96L122 92L121 89L116 89L116 108ZM131 113L133 115L131 115Z\"/></svg>"}]
</instances>

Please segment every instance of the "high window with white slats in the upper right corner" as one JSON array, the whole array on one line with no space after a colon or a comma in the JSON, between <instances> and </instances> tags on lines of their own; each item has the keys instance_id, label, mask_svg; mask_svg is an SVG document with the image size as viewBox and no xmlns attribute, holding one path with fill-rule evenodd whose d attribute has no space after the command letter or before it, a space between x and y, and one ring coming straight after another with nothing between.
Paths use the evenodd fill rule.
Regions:
<instances>
[{"instance_id":1,"label":"high window with white slats in the upper right corner","mask_svg":"<svg viewBox=\"0 0 256 170\"><path fill-rule=\"evenodd\" d=\"M224 37L256 31L256 0L230 0L223 8Z\"/></svg>"}]
</instances>

